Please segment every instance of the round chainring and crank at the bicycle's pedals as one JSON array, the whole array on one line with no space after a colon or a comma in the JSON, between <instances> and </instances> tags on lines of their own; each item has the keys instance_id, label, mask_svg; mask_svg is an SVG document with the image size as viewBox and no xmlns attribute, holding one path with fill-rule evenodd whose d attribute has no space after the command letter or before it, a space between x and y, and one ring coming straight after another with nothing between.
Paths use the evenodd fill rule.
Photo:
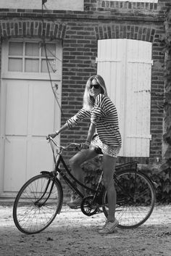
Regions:
<instances>
[{"instance_id":1,"label":"round chainring and crank at the bicycle's pedals","mask_svg":"<svg viewBox=\"0 0 171 256\"><path fill-rule=\"evenodd\" d=\"M83 199L80 204L80 210L87 216L96 214L98 207L93 204L93 196L88 196Z\"/></svg>"}]
</instances>

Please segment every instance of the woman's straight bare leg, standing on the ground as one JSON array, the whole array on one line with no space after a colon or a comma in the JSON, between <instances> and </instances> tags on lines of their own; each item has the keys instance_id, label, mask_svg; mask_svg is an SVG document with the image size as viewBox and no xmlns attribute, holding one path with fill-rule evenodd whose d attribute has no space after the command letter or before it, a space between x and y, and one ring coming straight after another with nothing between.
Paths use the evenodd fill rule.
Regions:
<instances>
[{"instance_id":1,"label":"woman's straight bare leg, standing on the ground","mask_svg":"<svg viewBox=\"0 0 171 256\"><path fill-rule=\"evenodd\" d=\"M115 208L116 208L116 199L117 194L114 188L114 181L113 181L113 173L116 165L116 158L109 157L104 154L103 157L103 170L104 170L104 186L107 189L107 199L109 204L109 214L108 220L114 221L115 219Z\"/></svg>"}]
</instances>

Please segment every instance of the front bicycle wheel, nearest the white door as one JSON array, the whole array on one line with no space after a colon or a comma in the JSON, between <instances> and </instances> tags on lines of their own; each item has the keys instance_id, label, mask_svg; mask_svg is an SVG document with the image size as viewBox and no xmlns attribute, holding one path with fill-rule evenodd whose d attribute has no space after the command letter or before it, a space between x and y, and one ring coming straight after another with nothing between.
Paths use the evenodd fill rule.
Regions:
<instances>
[{"instance_id":1,"label":"front bicycle wheel, nearest the white door","mask_svg":"<svg viewBox=\"0 0 171 256\"><path fill-rule=\"evenodd\" d=\"M14 200L15 226L25 234L36 234L47 228L60 212L63 191L58 179L41 174L30 178Z\"/></svg>"}]
</instances>

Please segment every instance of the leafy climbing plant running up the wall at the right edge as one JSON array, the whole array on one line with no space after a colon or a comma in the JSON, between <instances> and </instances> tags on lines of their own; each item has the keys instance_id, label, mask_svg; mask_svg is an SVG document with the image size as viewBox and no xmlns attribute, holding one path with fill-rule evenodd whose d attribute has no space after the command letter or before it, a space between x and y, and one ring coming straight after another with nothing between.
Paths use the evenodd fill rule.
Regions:
<instances>
[{"instance_id":1,"label":"leafy climbing plant running up the wall at the right edge","mask_svg":"<svg viewBox=\"0 0 171 256\"><path fill-rule=\"evenodd\" d=\"M171 10L167 13L164 22L164 156L161 171L149 173L157 183L157 201L171 201Z\"/></svg>"}]
</instances>

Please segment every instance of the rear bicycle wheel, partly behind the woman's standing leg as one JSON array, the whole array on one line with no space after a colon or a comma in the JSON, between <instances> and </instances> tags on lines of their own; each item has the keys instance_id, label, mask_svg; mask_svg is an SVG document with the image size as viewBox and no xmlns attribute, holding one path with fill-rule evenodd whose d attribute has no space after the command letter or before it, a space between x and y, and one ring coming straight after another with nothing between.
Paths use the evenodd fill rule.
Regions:
<instances>
[{"instance_id":1,"label":"rear bicycle wheel, partly behind the woman's standing leg","mask_svg":"<svg viewBox=\"0 0 171 256\"><path fill-rule=\"evenodd\" d=\"M137 228L150 217L154 209L155 189L151 180L142 172L122 170L117 172L115 189L117 204L115 217L119 228ZM107 205L107 191L104 191L102 202ZM103 207L104 215L108 215L108 207Z\"/></svg>"}]
</instances>

